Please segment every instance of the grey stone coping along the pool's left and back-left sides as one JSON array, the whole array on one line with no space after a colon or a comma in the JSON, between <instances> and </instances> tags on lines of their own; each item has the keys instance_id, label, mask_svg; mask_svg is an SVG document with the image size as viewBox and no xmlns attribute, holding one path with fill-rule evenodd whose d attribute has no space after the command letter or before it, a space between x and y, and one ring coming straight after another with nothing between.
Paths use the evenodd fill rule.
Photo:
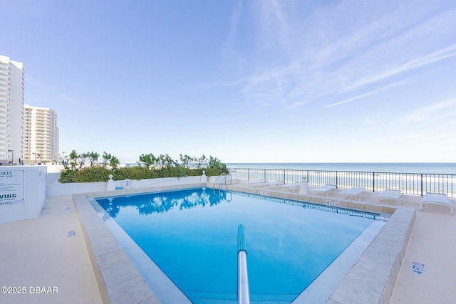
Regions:
<instances>
[{"instance_id":1,"label":"grey stone coping along the pool's left and back-left sides","mask_svg":"<svg viewBox=\"0 0 456 304\"><path fill-rule=\"evenodd\" d=\"M160 192L197 187L206 187L206 183L161 187ZM73 203L103 303L161 303L89 201L94 197L147 192L156 192L156 188L73 194Z\"/></svg>"}]
</instances>

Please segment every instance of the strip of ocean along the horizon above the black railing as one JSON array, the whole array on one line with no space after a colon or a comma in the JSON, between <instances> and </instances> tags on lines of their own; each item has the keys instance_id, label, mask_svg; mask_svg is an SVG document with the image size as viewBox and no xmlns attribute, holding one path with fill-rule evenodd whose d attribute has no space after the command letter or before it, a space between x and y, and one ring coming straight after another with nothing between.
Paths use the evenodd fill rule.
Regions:
<instances>
[{"instance_id":1,"label":"strip of ocean along the horizon above the black railing","mask_svg":"<svg viewBox=\"0 0 456 304\"><path fill-rule=\"evenodd\" d=\"M455 162L266 162L227 163L228 168L297 169L350 172L394 172L423 174L456 174Z\"/></svg>"}]
</instances>

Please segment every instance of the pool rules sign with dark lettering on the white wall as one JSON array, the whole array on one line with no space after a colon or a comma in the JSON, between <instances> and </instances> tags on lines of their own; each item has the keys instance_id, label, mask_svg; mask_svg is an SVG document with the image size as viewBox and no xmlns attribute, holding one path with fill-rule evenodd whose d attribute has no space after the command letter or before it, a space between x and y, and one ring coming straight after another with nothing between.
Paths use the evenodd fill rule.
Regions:
<instances>
[{"instance_id":1,"label":"pool rules sign with dark lettering on the white wall","mask_svg":"<svg viewBox=\"0 0 456 304\"><path fill-rule=\"evenodd\" d=\"M24 202L24 170L0 170L0 205Z\"/></svg>"}]
</instances>

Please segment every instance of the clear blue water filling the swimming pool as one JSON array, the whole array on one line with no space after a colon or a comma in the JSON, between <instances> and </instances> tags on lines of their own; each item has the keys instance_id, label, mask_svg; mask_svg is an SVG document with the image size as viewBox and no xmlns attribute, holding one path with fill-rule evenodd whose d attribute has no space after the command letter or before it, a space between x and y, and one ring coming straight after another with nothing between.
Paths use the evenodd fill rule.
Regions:
<instances>
[{"instance_id":1,"label":"clear blue water filling the swimming pool","mask_svg":"<svg viewBox=\"0 0 456 304\"><path fill-rule=\"evenodd\" d=\"M236 300L239 224L252 303L291 303L375 218L205 188L96 200L197 304Z\"/></svg>"}]
</instances>

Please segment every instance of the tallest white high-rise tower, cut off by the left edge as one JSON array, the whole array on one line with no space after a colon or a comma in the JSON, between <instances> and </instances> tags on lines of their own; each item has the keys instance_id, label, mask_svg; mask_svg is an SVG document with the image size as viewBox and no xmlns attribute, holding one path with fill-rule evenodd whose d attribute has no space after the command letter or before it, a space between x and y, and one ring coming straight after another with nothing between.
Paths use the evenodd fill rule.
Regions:
<instances>
[{"instance_id":1,"label":"tallest white high-rise tower, cut off by the left edge","mask_svg":"<svg viewBox=\"0 0 456 304\"><path fill-rule=\"evenodd\" d=\"M0 55L0 164L24 157L24 65Z\"/></svg>"}]
</instances>

